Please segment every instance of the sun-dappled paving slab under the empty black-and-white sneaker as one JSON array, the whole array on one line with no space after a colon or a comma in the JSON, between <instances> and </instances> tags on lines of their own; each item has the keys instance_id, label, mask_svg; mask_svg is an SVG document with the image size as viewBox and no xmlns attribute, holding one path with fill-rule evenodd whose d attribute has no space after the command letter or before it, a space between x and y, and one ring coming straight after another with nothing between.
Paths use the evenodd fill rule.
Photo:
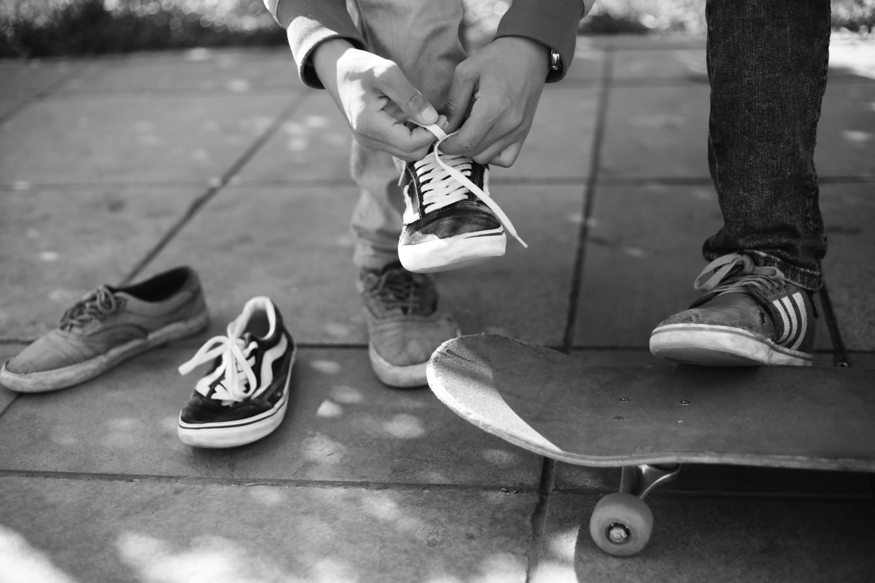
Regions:
<instances>
[{"instance_id":1,"label":"sun-dappled paving slab under the empty black-and-white sneaker","mask_svg":"<svg viewBox=\"0 0 875 583\"><path fill-rule=\"evenodd\" d=\"M199 346L156 350L73 389L22 395L0 417L0 469L537 488L540 457L473 427L427 388L381 385L364 349L301 349L289 413L267 438L231 449L183 445L179 410L197 377L177 367Z\"/></svg>"}]
</instances>

